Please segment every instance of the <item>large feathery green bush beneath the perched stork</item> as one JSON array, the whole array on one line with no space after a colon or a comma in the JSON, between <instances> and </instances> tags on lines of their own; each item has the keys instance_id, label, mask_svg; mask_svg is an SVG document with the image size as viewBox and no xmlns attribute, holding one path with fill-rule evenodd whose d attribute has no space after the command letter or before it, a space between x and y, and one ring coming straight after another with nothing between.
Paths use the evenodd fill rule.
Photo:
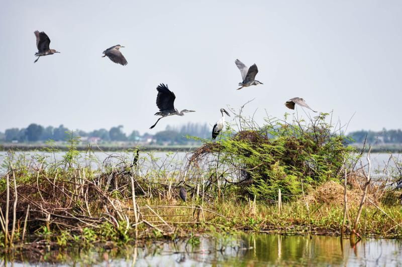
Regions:
<instances>
[{"instance_id":1,"label":"large feathery green bush beneath the perched stork","mask_svg":"<svg viewBox=\"0 0 402 267\"><path fill-rule=\"evenodd\" d=\"M267 119L262 127L251 121L237 132L228 127L219 141L208 141L196 150L190 164L211 154L219 161L211 169L207 188L218 183L222 190L240 185L239 194L272 201L281 189L282 199L291 200L302 195L302 183L308 190L337 178L353 152L344 145L346 138L339 130L326 122L328 115L321 113L308 123L295 119L288 123L286 116L285 121Z\"/></svg>"}]
</instances>

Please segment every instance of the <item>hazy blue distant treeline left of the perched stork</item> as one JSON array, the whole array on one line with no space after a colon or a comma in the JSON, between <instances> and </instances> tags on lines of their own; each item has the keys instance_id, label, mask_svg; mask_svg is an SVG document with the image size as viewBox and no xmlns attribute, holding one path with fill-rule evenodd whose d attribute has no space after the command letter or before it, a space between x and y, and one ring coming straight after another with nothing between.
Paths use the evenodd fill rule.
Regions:
<instances>
[{"instance_id":1,"label":"hazy blue distant treeline left of the perched stork","mask_svg":"<svg viewBox=\"0 0 402 267\"><path fill-rule=\"evenodd\" d=\"M66 132L71 132L70 129L60 125L59 127L47 126L31 123L27 128L11 128L7 129L4 133L0 132L0 142L38 142L48 141L49 139L54 141L66 140ZM126 135L123 132L123 126L119 125L110 128L110 130L101 128L93 130L91 132L85 132L82 130L73 131L74 136L87 139L90 137L97 138L99 142L108 141L144 141L152 140L153 143L165 143L170 142L172 144L185 144L193 140L187 139L185 136L196 136L200 138L209 138L211 135L210 127L205 124L188 123L180 127L166 126L164 131L156 132L155 135L140 133L134 130L131 134Z\"/></svg>"}]
</instances>

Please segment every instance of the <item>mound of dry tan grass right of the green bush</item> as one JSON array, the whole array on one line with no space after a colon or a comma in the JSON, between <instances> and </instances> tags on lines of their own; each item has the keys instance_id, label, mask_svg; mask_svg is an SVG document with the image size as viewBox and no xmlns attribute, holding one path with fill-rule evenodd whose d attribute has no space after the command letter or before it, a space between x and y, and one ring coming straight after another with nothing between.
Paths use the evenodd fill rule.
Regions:
<instances>
[{"instance_id":1,"label":"mound of dry tan grass right of the green bush","mask_svg":"<svg viewBox=\"0 0 402 267\"><path fill-rule=\"evenodd\" d=\"M348 188L346 191L349 206L359 206L363 191L359 187ZM372 192L367 193L367 198L377 203L376 197ZM312 190L307 196L309 203L325 203L329 205L344 205L344 187L335 182L328 181ZM371 205L369 201L367 205Z\"/></svg>"}]
</instances>

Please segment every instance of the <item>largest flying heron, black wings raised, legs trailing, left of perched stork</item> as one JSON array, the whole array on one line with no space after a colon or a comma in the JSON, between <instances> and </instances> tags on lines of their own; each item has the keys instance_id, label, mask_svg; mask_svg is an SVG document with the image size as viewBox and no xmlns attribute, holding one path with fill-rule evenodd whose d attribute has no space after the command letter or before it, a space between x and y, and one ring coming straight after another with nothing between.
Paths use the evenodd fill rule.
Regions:
<instances>
[{"instance_id":1,"label":"largest flying heron, black wings raised, legs trailing, left of perched stork","mask_svg":"<svg viewBox=\"0 0 402 267\"><path fill-rule=\"evenodd\" d=\"M156 106L158 106L159 112L156 112L155 115L159 115L162 117L160 117L149 129L154 128L158 121L164 117L172 115L184 116L185 112L195 112L194 110L187 109L183 109L179 112L177 109L175 109L174 100L176 99L176 96L172 91L169 90L169 88L167 88L167 85L160 84L158 85L156 90L158 90L158 96L156 97Z\"/></svg>"}]
</instances>

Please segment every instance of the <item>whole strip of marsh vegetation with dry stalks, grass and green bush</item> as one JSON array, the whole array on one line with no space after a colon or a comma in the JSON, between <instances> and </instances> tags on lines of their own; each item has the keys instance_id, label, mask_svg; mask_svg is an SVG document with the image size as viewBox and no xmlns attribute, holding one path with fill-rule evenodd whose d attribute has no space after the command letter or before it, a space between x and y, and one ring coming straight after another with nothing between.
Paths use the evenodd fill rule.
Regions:
<instances>
[{"instance_id":1,"label":"whole strip of marsh vegetation with dry stalks, grass and green bush","mask_svg":"<svg viewBox=\"0 0 402 267\"><path fill-rule=\"evenodd\" d=\"M331 114L308 120L285 114L258 125L236 112L215 142L185 160L162 162L137 149L82 164L69 134L62 159L9 151L0 180L0 242L17 251L119 247L148 240L186 240L253 231L399 238L402 234L400 162L390 157L374 177L343 125ZM48 146L47 155L59 152ZM128 155L128 156L127 156ZM179 168L169 168L176 164ZM187 190L187 201L178 188ZM345 201L346 200L346 201Z\"/></svg>"}]
</instances>

